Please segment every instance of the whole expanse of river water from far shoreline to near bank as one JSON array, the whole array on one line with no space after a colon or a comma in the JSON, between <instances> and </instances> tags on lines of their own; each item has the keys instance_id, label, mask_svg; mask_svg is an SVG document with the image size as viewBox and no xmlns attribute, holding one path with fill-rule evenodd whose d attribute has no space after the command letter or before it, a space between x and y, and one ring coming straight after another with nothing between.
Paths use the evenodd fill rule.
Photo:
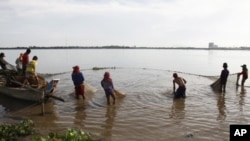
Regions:
<instances>
[{"instance_id":1,"label":"whole expanse of river water from far shoreline to near bank","mask_svg":"<svg viewBox=\"0 0 250 141\"><path fill-rule=\"evenodd\" d=\"M3 51L10 63L24 52ZM234 75L248 63L248 54L221 50L32 50L30 56L39 58L37 72L60 79L55 95L65 102L46 103L41 116L40 105L0 96L0 120L29 118L42 135L77 128L107 141L229 140L231 124L248 124L250 120L249 80L244 88L237 88ZM217 80L224 62L231 75L226 93L219 93L210 84ZM72 95L74 65L79 65L85 76L85 100ZM107 106L100 86L105 71L110 72L115 88L126 94L111 106ZM173 72L187 80L186 99L173 100Z\"/></svg>"}]
</instances>

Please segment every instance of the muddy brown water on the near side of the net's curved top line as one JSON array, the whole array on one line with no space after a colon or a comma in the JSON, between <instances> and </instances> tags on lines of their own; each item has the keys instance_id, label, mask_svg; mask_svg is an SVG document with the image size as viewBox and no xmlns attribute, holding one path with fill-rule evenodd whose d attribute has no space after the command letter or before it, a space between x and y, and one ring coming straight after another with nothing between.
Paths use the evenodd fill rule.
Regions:
<instances>
[{"instance_id":1,"label":"muddy brown water on the near side of the net's curved top line","mask_svg":"<svg viewBox=\"0 0 250 141\"><path fill-rule=\"evenodd\" d=\"M115 88L126 97L107 106L100 81L109 71ZM209 86L216 79L179 73L187 80L186 99L173 100L171 71L150 69L84 70L86 99L76 100L70 73L60 78L56 96L41 106L1 96L2 121L34 120L41 135L68 128L91 132L107 141L229 140L230 124L248 124L249 88L236 88L230 76L226 93Z\"/></svg>"}]
</instances>

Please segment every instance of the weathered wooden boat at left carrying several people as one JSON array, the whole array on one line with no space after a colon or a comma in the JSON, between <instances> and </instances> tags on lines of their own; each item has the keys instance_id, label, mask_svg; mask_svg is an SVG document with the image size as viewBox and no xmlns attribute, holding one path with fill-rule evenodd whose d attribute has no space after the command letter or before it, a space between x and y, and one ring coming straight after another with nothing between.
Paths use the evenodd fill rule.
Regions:
<instances>
[{"instance_id":1,"label":"weathered wooden boat at left carrying several people","mask_svg":"<svg viewBox=\"0 0 250 141\"><path fill-rule=\"evenodd\" d=\"M45 82L43 77L39 78L39 84L25 84L24 76L6 76L0 77L0 94L28 101L41 102L45 97L53 97L56 91L59 79L53 79L49 83Z\"/></svg>"}]
</instances>

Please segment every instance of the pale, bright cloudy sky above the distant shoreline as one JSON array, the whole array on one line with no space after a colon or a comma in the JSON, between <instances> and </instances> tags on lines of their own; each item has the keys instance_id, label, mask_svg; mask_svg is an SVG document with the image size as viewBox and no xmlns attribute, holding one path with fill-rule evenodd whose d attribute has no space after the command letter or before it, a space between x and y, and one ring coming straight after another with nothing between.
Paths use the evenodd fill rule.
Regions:
<instances>
[{"instance_id":1,"label":"pale, bright cloudy sky above the distant shoreline","mask_svg":"<svg viewBox=\"0 0 250 141\"><path fill-rule=\"evenodd\" d=\"M0 0L0 47L250 46L249 0Z\"/></svg>"}]
</instances>

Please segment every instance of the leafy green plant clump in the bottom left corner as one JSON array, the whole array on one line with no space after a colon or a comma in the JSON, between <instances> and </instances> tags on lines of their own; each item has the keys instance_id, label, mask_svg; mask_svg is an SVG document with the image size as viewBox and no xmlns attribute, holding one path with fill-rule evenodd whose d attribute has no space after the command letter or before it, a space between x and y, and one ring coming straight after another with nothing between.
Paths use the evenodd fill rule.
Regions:
<instances>
[{"instance_id":1,"label":"leafy green plant clump in the bottom left corner","mask_svg":"<svg viewBox=\"0 0 250 141\"><path fill-rule=\"evenodd\" d=\"M27 136L34 133L34 122L26 119L17 124L0 125L0 141L17 140L18 137Z\"/></svg>"}]
</instances>

